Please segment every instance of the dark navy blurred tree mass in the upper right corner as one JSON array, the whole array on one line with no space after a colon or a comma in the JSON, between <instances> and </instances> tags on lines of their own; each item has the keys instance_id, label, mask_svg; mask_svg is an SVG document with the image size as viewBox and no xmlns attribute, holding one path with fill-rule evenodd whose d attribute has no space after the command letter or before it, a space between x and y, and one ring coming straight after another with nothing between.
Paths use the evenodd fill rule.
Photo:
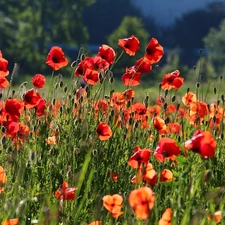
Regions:
<instances>
[{"instance_id":1,"label":"dark navy blurred tree mass in the upper right corner","mask_svg":"<svg viewBox=\"0 0 225 225\"><path fill-rule=\"evenodd\" d=\"M168 47L185 50L203 48L203 37L211 27L217 27L225 17L225 2L214 2L205 9L197 9L178 19L172 28L165 31Z\"/></svg>"}]
</instances>

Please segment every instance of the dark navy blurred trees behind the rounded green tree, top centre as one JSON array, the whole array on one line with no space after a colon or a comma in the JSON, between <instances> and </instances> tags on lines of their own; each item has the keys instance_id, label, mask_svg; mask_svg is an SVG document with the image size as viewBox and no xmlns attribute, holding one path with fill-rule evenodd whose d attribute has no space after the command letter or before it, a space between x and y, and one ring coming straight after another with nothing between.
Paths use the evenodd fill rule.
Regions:
<instances>
[{"instance_id":1,"label":"dark navy blurred trees behind the rounded green tree, top centre","mask_svg":"<svg viewBox=\"0 0 225 225\"><path fill-rule=\"evenodd\" d=\"M84 23L88 27L91 44L107 42L107 37L121 24L125 16L138 17L151 33L156 33L156 26L151 18L144 18L131 0L96 0L84 10Z\"/></svg>"}]
</instances>

